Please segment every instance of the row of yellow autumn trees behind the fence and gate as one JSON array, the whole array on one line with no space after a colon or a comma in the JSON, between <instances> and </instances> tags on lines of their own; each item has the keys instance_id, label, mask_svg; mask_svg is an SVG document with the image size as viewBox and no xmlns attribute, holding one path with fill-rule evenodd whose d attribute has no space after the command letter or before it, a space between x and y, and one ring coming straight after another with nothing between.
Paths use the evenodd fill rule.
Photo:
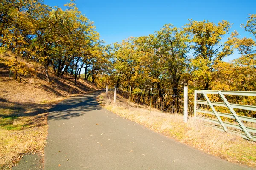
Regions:
<instances>
[{"instance_id":1,"label":"row of yellow autumn trees behind the fence and gate","mask_svg":"<svg viewBox=\"0 0 256 170\"><path fill-rule=\"evenodd\" d=\"M108 48L109 71L100 74L100 87L126 89L133 102L163 112L179 111L183 87L188 86L189 109L193 110L194 90L256 91L256 15L249 14L242 26L251 37L231 32L228 21L189 20L182 28L166 24L148 36L129 37ZM225 57L236 54L230 62ZM212 101L222 102L217 96ZM204 97L198 95L198 100ZM256 105L252 96L227 96L230 103ZM182 110L182 109L181 109ZM219 110L227 113L227 109ZM256 111L239 111L256 117Z\"/></svg>"}]
</instances>

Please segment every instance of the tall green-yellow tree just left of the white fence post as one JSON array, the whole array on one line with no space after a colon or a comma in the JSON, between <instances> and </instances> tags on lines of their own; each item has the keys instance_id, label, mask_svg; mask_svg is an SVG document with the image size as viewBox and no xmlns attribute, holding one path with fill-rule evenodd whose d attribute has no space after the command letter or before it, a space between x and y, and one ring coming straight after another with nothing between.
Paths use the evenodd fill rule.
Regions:
<instances>
[{"instance_id":1,"label":"tall green-yellow tree just left of the white fence post","mask_svg":"<svg viewBox=\"0 0 256 170\"><path fill-rule=\"evenodd\" d=\"M172 100L172 105L179 110L178 97L183 87L188 83L189 62L189 34L183 29L173 27L171 24L164 25L160 31L157 31L157 55L163 59L166 83L169 83L169 88L172 88L172 96L176 99ZM162 91L160 91L161 93ZM163 95L162 95L163 96ZM162 97L163 98L163 97Z\"/></svg>"}]
</instances>

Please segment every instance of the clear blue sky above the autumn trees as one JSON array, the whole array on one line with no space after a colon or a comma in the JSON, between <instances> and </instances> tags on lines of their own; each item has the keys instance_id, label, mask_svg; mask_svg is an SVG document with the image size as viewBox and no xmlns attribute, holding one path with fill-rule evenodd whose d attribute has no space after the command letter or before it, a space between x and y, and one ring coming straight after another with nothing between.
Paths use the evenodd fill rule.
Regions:
<instances>
[{"instance_id":1,"label":"clear blue sky above the autumn trees","mask_svg":"<svg viewBox=\"0 0 256 170\"><path fill-rule=\"evenodd\" d=\"M63 7L68 0L44 0L50 6ZM241 37L250 37L240 24L246 23L248 14L256 14L256 0L76 0L80 11L94 22L101 38L107 44L128 37L153 34L167 23L181 27L189 18L218 23L233 23L231 31ZM224 60L232 60L234 54Z\"/></svg>"}]
</instances>

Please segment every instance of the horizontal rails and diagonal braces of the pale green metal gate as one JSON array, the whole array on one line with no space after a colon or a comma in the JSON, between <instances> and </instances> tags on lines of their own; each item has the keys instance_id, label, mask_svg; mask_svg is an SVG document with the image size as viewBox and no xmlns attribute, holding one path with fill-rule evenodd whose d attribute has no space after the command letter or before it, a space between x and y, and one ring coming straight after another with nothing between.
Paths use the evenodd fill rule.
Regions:
<instances>
[{"instance_id":1,"label":"horizontal rails and diagonal braces of the pale green metal gate","mask_svg":"<svg viewBox=\"0 0 256 170\"><path fill-rule=\"evenodd\" d=\"M197 100L197 94L202 94L206 100ZM207 96L207 94L218 94L223 102L211 102ZM239 95L239 96L256 96L255 91L211 91L211 90L195 90L194 93L194 116L197 119L203 120L204 122L211 122L216 125L221 125L221 127L212 125L218 130L223 130L224 132L230 131L232 133L239 133L238 131L227 129L227 127L236 128L241 130L239 133L241 137L249 140L256 141L256 129L252 127L246 127L242 121L256 123L256 118L247 117L247 116L239 116L236 114L233 108L256 111L256 106L251 105L240 105L240 104L232 104L229 103L224 95ZM212 111L198 109L197 104L209 105ZM231 114L229 113L221 113L217 112L214 106L227 107ZM197 116L197 113L206 113L210 115L216 116L217 120L209 119L201 116ZM235 119L239 125L233 123L223 122L221 117L226 117L230 119ZM204 123L206 124L206 123Z\"/></svg>"}]
</instances>

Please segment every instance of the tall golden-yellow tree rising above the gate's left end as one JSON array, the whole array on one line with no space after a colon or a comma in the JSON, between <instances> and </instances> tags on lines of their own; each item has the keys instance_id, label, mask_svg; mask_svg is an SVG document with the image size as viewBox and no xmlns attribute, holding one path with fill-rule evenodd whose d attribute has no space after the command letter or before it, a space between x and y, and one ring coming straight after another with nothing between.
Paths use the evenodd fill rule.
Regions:
<instances>
[{"instance_id":1,"label":"tall golden-yellow tree rising above the gate's left end","mask_svg":"<svg viewBox=\"0 0 256 170\"><path fill-rule=\"evenodd\" d=\"M192 49L195 55L195 59L192 60L192 74L196 82L203 80L199 88L209 89L214 71L213 65L232 54L228 42L221 44L222 38L230 28L231 24L224 20L218 25L205 20L189 20L189 24L186 24L184 30L192 35Z\"/></svg>"}]
</instances>

